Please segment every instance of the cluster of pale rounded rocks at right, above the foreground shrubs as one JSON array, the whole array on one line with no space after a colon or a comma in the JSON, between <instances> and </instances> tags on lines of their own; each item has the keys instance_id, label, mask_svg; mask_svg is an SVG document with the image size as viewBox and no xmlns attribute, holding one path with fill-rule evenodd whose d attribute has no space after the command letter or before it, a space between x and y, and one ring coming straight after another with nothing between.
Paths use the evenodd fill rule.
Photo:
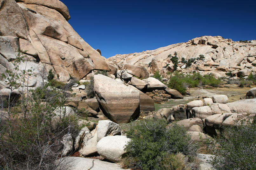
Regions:
<instances>
[{"instance_id":1,"label":"cluster of pale rounded rocks at right, above the foreground shrubs","mask_svg":"<svg viewBox=\"0 0 256 170\"><path fill-rule=\"evenodd\" d=\"M223 133L223 127L233 126L240 121L253 120L256 113L255 88L247 92L247 98L232 103L228 102L226 95L215 95L212 98L204 98L204 100L194 100L185 105L180 104L172 108L164 108L155 112L153 115L145 116L145 119L158 118L165 119L168 122L178 121L192 135L195 140L203 134L219 135ZM251 94L254 94L252 97Z\"/></svg>"}]
</instances>

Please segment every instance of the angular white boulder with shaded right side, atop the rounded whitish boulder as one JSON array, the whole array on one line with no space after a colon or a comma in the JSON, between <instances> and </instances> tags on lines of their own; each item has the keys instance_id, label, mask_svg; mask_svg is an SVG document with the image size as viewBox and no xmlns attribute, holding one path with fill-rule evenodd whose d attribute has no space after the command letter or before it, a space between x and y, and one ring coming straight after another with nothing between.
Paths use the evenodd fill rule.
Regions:
<instances>
[{"instance_id":1,"label":"angular white boulder with shaded right side, atop the rounded whitish boulder","mask_svg":"<svg viewBox=\"0 0 256 170\"><path fill-rule=\"evenodd\" d=\"M105 136L121 135L121 128L117 123L109 120L100 120L97 125L97 141Z\"/></svg>"}]
</instances>

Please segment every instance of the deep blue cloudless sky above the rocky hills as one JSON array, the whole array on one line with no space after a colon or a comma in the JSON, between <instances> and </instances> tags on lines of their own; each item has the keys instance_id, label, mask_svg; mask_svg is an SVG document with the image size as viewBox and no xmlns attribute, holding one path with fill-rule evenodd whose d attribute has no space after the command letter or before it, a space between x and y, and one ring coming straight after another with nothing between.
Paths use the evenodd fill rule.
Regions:
<instances>
[{"instance_id":1,"label":"deep blue cloudless sky above the rocky hills","mask_svg":"<svg viewBox=\"0 0 256 170\"><path fill-rule=\"evenodd\" d=\"M203 35L256 39L256 1L61 0L68 21L108 58L153 50Z\"/></svg>"}]
</instances>

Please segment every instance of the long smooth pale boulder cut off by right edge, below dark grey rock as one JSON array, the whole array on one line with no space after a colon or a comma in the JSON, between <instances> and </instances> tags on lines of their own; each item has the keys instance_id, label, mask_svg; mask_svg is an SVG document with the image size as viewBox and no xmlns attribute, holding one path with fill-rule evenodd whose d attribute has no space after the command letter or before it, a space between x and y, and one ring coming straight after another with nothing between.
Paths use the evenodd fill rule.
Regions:
<instances>
[{"instance_id":1,"label":"long smooth pale boulder cut off by right edge, below dark grey rock","mask_svg":"<svg viewBox=\"0 0 256 170\"><path fill-rule=\"evenodd\" d=\"M256 98L227 103L232 113L256 113Z\"/></svg>"}]
</instances>

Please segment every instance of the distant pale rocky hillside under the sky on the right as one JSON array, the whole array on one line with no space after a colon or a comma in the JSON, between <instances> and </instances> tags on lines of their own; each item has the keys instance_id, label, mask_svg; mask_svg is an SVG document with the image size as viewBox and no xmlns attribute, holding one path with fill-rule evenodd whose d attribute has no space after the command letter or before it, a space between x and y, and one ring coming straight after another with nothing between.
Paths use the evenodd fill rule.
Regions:
<instances>
[{"instance_id":1,"label":"distant pale rocky hillside under the sky on the right","mask_svg":"<svg viewBox=\"0 0 256 170\"><path fill-rule=\"evenodd\" d=\"M188 42L172 44L155 50L117 54L108 60L119 66L122 64L144 66L149 73L158 70L166 77L167 72L173 71L171 58L175 52L179 59L177 70L180 72L191 72L192 70L197 70L202 74L213 72L219 77L226 76L227 71L232 72L245 68L252 72L256 71L256 61L254 61L256 41L232 41L221 36L202 36ZM189 68L186 68L186 65L180 62L182 58L187 61L192 58L196 59L199 55L204 55L205 60L196 60Z\"/></svg>"}]
</instances>

